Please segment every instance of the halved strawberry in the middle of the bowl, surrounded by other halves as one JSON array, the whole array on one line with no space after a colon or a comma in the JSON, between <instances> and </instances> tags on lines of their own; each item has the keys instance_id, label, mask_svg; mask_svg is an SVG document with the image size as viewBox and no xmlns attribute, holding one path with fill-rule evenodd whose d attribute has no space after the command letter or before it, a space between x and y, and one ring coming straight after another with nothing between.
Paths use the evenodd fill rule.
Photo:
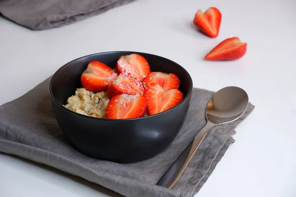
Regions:
<instances>
[{"instance_id":1,"label":"halved strawberry in the middle of the bowl, surrounded by other halves","mask_svg":"<svg viewBox=\"0 0 296 197\"><path fill-rule=\"evenodd\" d=\"M120 73L118 77L109 85L108 92L111 96L121 94L143 95L144 84L130 74Z\"/></svg>"}]
</instances>

